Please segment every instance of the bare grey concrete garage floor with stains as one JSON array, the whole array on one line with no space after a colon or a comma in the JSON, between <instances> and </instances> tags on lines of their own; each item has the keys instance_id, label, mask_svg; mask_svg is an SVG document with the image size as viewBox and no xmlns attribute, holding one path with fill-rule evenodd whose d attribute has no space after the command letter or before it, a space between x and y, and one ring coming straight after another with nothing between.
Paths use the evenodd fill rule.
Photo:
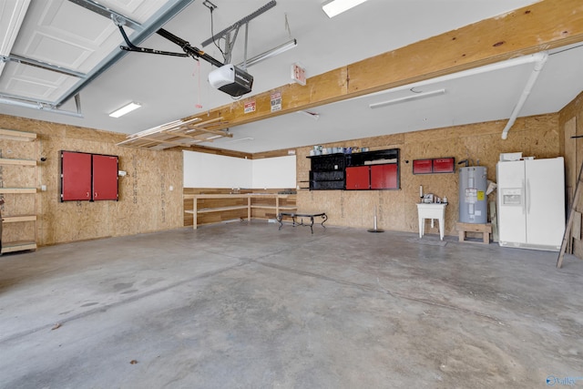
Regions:
<instances>
[{"instance_id":1,"label":"bare grey concrete garage floor with stains","mask_svg":"<svg viewBox=\"0 0 583 389\"><path fill-rule=\"evenodd\" d=\"M3 388L583 386L583 261L230 223L0 258Z\"/></svg>"}]
</instances>

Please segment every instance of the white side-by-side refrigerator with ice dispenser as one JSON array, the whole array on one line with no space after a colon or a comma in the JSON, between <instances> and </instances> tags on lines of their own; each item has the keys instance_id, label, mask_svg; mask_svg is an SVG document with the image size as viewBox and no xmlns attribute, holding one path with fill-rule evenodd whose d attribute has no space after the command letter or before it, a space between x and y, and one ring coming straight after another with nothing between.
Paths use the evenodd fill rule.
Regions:
<instances>
[{"instance_id":1,"label":"white side-by-side refrigerator with ice dispenser","mask_svg":"<svg viewBox=\"0 0 583 389\"><path fill-rule=\"evenodd\" d=\"M559 251L565 231L565 163L554 159L496 164L500 246Z\"/></svg>"}]
</instances>

